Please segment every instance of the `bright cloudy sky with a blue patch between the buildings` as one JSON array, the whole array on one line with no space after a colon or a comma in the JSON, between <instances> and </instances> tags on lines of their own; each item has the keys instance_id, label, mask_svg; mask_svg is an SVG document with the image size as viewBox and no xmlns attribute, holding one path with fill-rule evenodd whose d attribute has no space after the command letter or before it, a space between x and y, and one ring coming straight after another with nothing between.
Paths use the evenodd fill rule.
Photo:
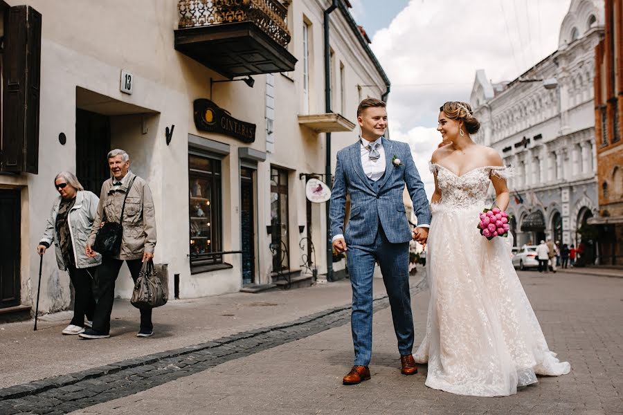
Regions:
<instances>
[{"instance_id":1,"label":"bright cloudy sky with a blue patch between the buildings","mask_svg":"<svg viewBox=\"0 0 623 415\"><path fill-rule=\"evenodd\" d=\"M390 137L408 142L433 192L428 160L439 107L469 101L476 70L514 80L558 48L570 0L350 0L390 81Z\"/></svg>"}]
</instances>

